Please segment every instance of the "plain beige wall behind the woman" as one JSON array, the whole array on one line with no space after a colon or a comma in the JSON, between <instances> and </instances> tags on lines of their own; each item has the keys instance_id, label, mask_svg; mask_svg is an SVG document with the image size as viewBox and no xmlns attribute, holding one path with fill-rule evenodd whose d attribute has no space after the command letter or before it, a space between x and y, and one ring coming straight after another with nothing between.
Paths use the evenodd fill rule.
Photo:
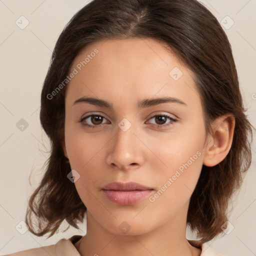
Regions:
<instances>
[{"instance_id":1,"label":"plain beige wall behind the woman","mask_svg":"<svg viewBox=\"0 0 256 256\"><path fill-rule=\"evenodd\" d=\"M256 1L201 2L225 26L248 116L256 126ZM39 107L50 55L64 25L85 4L85 0L0 0L0 254L53 244L59 238L86 232L84 223L80 232L70 228L45 239L25 232L20 222L28 197L41 177L41 166L47 158L44 151L49 149L40 128ZM26 22L29 24L22 27ZM251 168L229 217L234 229L208 242L226 256L256 255L255 151L254 147ZM28 182L31 170L32 186Z\"/></svg>"}]
</instances>

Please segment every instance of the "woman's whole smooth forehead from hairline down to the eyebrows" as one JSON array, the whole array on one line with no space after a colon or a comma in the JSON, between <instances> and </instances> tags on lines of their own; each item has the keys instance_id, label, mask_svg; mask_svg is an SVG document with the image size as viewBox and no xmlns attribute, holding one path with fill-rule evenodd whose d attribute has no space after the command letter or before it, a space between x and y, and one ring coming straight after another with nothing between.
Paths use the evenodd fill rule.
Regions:
<instances>
[{"instance_id":1,"label":"woman's whole smooth forehead from hairline down to the eyebrows","mask_svg":"<svg viewBox=\"0 0 256 256\"><path fill-rule=\"evenodd\" d=\"M93 95L121 103L167 94L199 100L190 70L150 38L94 42L75 57L73 69L77 74L68 83L67 101Z\"/></svg>"}]
</instances>

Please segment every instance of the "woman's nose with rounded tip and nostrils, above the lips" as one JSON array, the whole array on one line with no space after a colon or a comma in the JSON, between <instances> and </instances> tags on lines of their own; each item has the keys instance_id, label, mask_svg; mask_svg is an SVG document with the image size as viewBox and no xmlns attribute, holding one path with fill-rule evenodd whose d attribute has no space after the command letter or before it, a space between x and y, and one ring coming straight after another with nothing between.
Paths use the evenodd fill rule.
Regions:
<instances>
[{"instance_id":1,"label":"woman's nose with rounded tip and nostrils, above the lips","mask_svg":"<svg viewBox=\"0 0 256 256\"><path fill-rule=\"evenodd\" d=\"M121 170L138 168L144 162L143 150L145 148L143 146L138 135L134 134L133 126L126 131L117 127L116 133L109 143L107 163L115 169Z\"/></svg>"}]
</instances>

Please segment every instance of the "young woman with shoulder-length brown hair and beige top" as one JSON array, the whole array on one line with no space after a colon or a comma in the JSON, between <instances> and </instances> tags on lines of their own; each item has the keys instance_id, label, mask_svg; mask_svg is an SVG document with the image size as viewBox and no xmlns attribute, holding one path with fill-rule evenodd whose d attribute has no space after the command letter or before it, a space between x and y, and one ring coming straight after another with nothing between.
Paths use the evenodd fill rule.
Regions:
<instances>
[{"instance_id":1,"label":"young woman with shoulder-length brown hair and beige top","mask_svg":"<svg viewBox=\"0 0 256 256\"><path fill-rule=\"evenodd\" d=\"M52 150L26 223L50 237L86 213L86 235L10 255L220 255L205 242L228 228L251 125L228 39L199 2L88 3L56 42L40 121Z\"/></svg>"}]
</instances>

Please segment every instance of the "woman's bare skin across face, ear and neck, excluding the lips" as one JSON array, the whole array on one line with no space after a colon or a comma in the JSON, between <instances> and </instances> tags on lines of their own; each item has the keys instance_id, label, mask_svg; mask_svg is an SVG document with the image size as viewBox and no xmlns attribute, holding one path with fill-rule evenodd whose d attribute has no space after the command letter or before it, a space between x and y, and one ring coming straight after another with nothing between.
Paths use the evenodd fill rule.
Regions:
<instances>
[{"instance_id":1,"label":"woman's bare skin across face, ear and neck, excluding the lips","mask_svg":"<svg viewBox=\"0 0 256 256\"><path fill-rule=\"evenodd\" d=\"M74 184L87 207L87 232L75 247L82 256L200 255L201 249L186 239L189 198L202 164L213 166L228 153L234 120L219 117L212 124L213 136L206 133L191 71L159 42L96 42L76 56L70 70L95 48L98 53L70 80L65 95L63 149L80 175ZM174 67L182 71L179 79L178 69L169 74ZM112 109L73 104L83 96L107 100ZM158 97L175 100L137 106ZM90 114L94 117L84 118ZM131 126L124 131L118 123ZM101 189L113 181L134 181L153 190L136 203L120 205ZM164 191L157 196L159 189ZM120 225L129 230L124 233Z\"/></svg>"}]
</instances>

